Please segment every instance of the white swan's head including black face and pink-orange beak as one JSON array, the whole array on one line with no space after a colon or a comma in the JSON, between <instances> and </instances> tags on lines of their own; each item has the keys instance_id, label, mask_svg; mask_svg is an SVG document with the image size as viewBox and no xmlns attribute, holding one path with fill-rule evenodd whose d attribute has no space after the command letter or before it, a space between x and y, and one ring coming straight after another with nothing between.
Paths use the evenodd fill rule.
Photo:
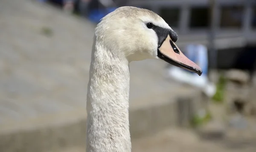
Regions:
<instances>
[{"instance_id":1,"label":"white swan's head including black face and pink-orange beak","mask_svg":"<svg viewBox=\"0 0 256 152\"><path fill-rule=\"evenodd\" d=\"M95 35L106 50L127 58L129 62L161 59L202 74L201 68L176 46L176 32L153 11L131 6L119 7L102 18Z\"/></svg>"}]
</instances>

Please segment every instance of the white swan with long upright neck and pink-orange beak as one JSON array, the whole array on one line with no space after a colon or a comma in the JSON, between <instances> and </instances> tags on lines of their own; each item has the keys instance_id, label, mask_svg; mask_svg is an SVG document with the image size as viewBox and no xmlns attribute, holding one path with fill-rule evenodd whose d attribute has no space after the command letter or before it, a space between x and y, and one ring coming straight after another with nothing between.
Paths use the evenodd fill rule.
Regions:
<instances>
[{"instance_id":1,"label":"white swan with long upright neck and pink-orange beak","mask_svg":"<svg viewBox=\"0 0 256 152\"><path fill-rule=\"evenodd\" d=\"M129 63L161 59L202 74L176 46L178 36L162 17L123 6L95 28L87 86L87 152L131 152Z\"/></svg>"}]
</instances>

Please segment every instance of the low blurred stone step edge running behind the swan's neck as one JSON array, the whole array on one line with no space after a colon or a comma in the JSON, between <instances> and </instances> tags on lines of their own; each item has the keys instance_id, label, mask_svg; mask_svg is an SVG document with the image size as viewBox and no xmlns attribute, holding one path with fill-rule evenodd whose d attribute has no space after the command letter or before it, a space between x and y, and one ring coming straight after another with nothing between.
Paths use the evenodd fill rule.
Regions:
<instances>
[{"instance_id":1,"label":"low blurred stone step edge running behind the swan's neck","mask_svg":"<svg viewBox=\"0 0 256 152\"><path fill-rule=\"evenodd\" d=\"M140 108L131 108L131 138L142 138L177 125L180 113L177 111L178 96L190 96L191 102L198 101L197 92L178 94L178 91L180 90L174 92L177 94L172 98L166 97L166 102L158 101L157 104L149 103ZM147 100L147 98L144 99ZM131 107L133 106L131 105ZM85 135L86 109L77 108L73 111L1 125L0 150L4 152L43 152L63 147L83 146Z\"/></svg>"}]
</instances>

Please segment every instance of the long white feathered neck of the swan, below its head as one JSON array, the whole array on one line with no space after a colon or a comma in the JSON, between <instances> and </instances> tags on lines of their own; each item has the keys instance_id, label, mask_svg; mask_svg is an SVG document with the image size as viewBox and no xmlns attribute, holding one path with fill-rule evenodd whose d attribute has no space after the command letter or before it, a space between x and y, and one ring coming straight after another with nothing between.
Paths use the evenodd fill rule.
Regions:
<instances>
[{"instance_id":1,"label":"long white feathered neck of the swan, below its head","mask_svg":"<svg viewBox=\"0 0 256 152\"><path fill-rule=\"evenodd\" d=\"M87 152L131 152L128 60L95 42L87 92Z\"/></svg>"}]
</instances>

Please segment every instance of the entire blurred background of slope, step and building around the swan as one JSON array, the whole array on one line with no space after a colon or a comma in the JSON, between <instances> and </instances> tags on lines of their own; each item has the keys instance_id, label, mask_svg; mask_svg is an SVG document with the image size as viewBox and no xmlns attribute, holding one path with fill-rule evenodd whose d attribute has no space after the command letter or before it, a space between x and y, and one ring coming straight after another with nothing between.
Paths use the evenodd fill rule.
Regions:
<instances>
[{"instance_id":1,"label":"entire blurred background of slope, step and building around the swan","mask_svg":"<svg viewBox=\"0 0 256 152\"><path fill-rule=\"evenodd\" d=\"M256 0L0 0L0 152L84 152L94 28L152 10L198 77L130 64L133 152L256 152Z\"/></svg>"}]
</instances>

